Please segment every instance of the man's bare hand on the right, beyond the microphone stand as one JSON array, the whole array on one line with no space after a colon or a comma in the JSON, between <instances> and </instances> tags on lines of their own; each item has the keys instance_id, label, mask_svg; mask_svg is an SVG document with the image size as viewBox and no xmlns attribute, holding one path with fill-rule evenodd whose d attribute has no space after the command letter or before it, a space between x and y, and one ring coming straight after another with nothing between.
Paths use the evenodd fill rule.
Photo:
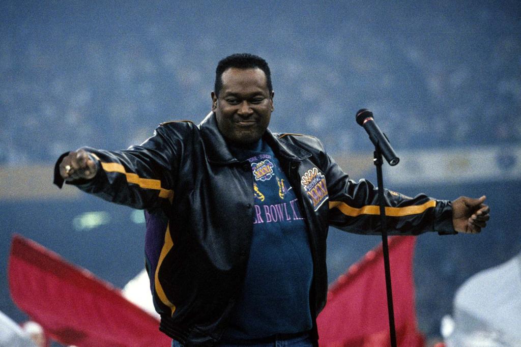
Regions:
<instances>
[{"instance_id":1,"label":"man's bare hand on the right, beyond the microphone stand","mask_svg":"<svg viewBox=\"0 0 521 347\"><path fill-rule=\"evenodd\" d=\"M477 234L487 226L490 207L483 204L485 195L479 199L460 196L452 202L452 224L457 232Z\"/></svg>"}]
</instances>

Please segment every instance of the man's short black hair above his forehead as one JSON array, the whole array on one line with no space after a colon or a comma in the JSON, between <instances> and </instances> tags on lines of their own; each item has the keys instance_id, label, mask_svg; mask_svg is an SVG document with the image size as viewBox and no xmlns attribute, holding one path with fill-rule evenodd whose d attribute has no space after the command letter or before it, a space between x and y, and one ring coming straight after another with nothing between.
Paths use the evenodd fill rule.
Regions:
<instances>
[{"instance_id":1,"label":"man's short black hair above his forehead","mask_svg":"<svg viewBox=\"0 0 521 347\"><path fill-rule=\"evenodd\" d=\"M263 58L250 54L250 53L235 53L227 56L224 59L219 61L217 64L217 68L215 69L215 84L214 84L214 93L216 96L219 96L219 92L222 88L222 73L224 73L229 68L238 68L238 69L255 69L259 68L264 71L264 75L266 75L266 84L268 86L268 90L271 93L273 87L271 86L271 72L269 71L268 63Z\"/></svg>"}]
</instances>

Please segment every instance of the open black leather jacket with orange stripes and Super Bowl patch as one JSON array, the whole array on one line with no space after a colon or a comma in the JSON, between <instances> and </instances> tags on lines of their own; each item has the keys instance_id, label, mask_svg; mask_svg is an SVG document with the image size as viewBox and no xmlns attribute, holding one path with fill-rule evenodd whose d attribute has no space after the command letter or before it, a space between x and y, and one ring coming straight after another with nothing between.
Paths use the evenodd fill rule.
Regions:
<instances>
[{"instance_id":1,"label":"open black leather jacket with orange stripes and Super Bowl patch","mask_svg":"<svg viewBox=\"0 0 521 347\"><path fill-rule=\"evenodd\" d=\"M316 318L326 303L328 226L378 233L377 191L366 180L349 180L314 137L267 130L264 139L307 223L314 265L309 304ZM160 330L185 345L218 341L249 257L254 218L250 164L230 153L213 113L199 126L162 123L153 137L126 151L85 150L99 159L100 170L92 180L74 184L105 200L145 209L146 264L162 317ZM63 184L56 172L55 183ZM454 233L450 202L392 191L385 197L390 234ZM313 337L318 338L316 323Z\"/></svg>"}]
</instances>

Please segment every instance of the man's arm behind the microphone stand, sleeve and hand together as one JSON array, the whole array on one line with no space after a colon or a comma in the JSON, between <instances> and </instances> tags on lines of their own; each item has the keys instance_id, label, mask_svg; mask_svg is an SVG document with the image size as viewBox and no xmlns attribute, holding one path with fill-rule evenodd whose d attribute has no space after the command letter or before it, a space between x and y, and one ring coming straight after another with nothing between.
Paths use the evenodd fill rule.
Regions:
<instances>
[{"instance_id":1,"label":"man's arm behind the microphone stand, sleeve and hand together","mask_svg":"<svg viewBox=\"0 0 521 347\"><path fill-rule=\"evenodd\" d=\"M328 159L330 223L353 232L357 232L357 228L358 232L364 233L378 231L379 207L375 187L365 180L349 181L334 161ZM384 196L389 206L386 214L391 234L417 234L432 230L431 226L440 234L479 233L490 218L484 195L479 199L461 196L452 202L431 199L423 194L411 199L388 190Z\"/></svg>"}]
</instances>

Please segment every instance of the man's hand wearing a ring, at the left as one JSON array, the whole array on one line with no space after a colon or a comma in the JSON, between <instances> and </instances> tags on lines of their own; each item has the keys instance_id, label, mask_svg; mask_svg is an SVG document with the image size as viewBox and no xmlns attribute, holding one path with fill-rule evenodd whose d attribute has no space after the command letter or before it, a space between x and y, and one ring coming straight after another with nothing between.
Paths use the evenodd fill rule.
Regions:
<instances>
[{"instance_id":1,"label":"man's hand wearing a ring, at the left","mask_svg":"<svg viewBox=\"0 0 521 347\"><path fill-rule=\"evenodd\" d=\"M84 150L72 151L61 160L60 175L66 181L89 180L96 176L97 165Z\"/></svg>"}]
</instances>

